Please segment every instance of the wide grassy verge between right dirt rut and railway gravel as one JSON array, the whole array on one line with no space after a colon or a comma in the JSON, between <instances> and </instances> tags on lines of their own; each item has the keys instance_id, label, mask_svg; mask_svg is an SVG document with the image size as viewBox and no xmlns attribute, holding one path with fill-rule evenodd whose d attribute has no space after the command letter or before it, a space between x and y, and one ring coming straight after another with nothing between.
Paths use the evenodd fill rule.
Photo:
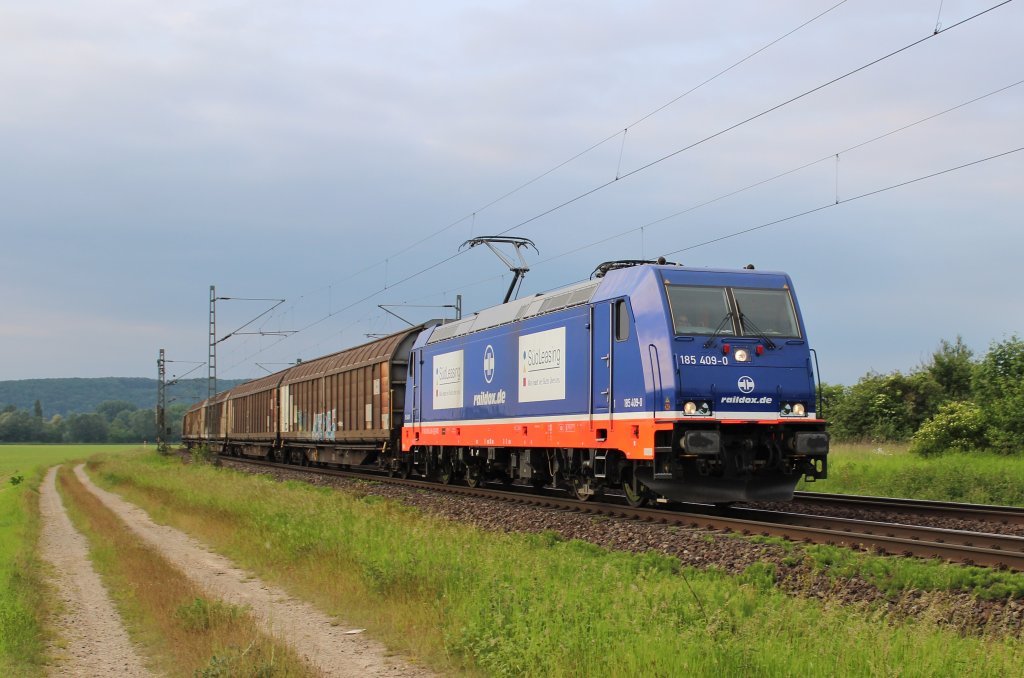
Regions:
<instances>
[{"instance_id":1,"label":"wide grassy verge between right dirt rut and railway gravel","mask_svg":"<svg viewBox=\"0 0 1024 678\"><path fill-rule=\"evenodd\" d=\"M156 455L93 475L158 520L443 672L545 676L1013 675L1014 639L794 598L741 577Z\"/></svg>"}]
</instances>

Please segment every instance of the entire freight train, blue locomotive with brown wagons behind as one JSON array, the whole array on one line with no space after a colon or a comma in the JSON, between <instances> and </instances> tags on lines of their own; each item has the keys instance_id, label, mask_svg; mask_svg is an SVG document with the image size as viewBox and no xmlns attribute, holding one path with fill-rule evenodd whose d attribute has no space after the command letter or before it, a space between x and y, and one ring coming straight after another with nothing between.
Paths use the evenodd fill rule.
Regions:
<instances>
[{"instance_id":1,"label":"entire freight train, blue locomotive with brown wagons behind","mask_svg":"<svg viewBox=\"0 0 1024 678\"><path fill-rule=\"evenodd\" d=\"M607 262L219 393L182 438L581 501L784 501L827 474L815 374L787 274Z\"/></svg>"}]
</instances>

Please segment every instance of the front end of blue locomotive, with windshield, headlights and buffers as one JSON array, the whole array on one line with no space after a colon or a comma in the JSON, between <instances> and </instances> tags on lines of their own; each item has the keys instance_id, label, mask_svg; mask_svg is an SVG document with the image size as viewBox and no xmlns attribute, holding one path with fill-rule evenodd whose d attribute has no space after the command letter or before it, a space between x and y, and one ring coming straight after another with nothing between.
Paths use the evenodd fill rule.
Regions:
<instances>
[{"instance_id":1,"label":"front end of blue locomotive, with windshield, headlights and buffers","mask_svg":"<svg viewBox=\"0 0 1024 678\"><path fill-rule=\"evenodd\" d=\"M638 469L644 485L723 503L788 500L801 477L824 478L828 436L790 278L678 267L657 277L663 322L648 331L652 342L668 334L662 377L674 387L658 416L674 423L671 442Z\"/></svg>"}]
</instances>

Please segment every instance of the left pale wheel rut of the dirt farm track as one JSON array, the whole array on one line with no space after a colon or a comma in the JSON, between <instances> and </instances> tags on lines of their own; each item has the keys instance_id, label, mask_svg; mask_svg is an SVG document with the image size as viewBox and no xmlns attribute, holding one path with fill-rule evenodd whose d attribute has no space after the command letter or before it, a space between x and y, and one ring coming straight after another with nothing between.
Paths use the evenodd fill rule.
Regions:
<instances>
[{"instance_id":1,"label":"left pale wheel rut of the dirt farm track","mask_svg":"<svg viewBox=\"0 0 1024 678\"><path fill-rule=\"evenodd\" d=\"M56 490L54 466L39 489L42 516L40 554L53 565L53 583L63 608L56 631L67 647L50 647L55 664L52 676L150 676L135 652L103 588L89 562L88 543L68 517Z\"/></svg>"}]
</instances>

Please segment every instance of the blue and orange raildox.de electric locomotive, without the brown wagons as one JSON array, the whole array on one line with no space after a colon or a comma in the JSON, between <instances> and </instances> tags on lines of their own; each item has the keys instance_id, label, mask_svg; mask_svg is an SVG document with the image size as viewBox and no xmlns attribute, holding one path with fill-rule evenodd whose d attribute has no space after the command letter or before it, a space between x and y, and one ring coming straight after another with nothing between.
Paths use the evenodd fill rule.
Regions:
<instances>
[{"instance_id":1,"label":"blue and orange raildox.de electric locomotive, without the brown wagons","mask_svg":"<svg viewBox=\"0 0 1024 678\"><path fill-rule=\"evenodd\" d=\"M825 477L788 276L628 264L425 329L388 463L634 505L788 500Z\"/></svg>"}]
</instances>

